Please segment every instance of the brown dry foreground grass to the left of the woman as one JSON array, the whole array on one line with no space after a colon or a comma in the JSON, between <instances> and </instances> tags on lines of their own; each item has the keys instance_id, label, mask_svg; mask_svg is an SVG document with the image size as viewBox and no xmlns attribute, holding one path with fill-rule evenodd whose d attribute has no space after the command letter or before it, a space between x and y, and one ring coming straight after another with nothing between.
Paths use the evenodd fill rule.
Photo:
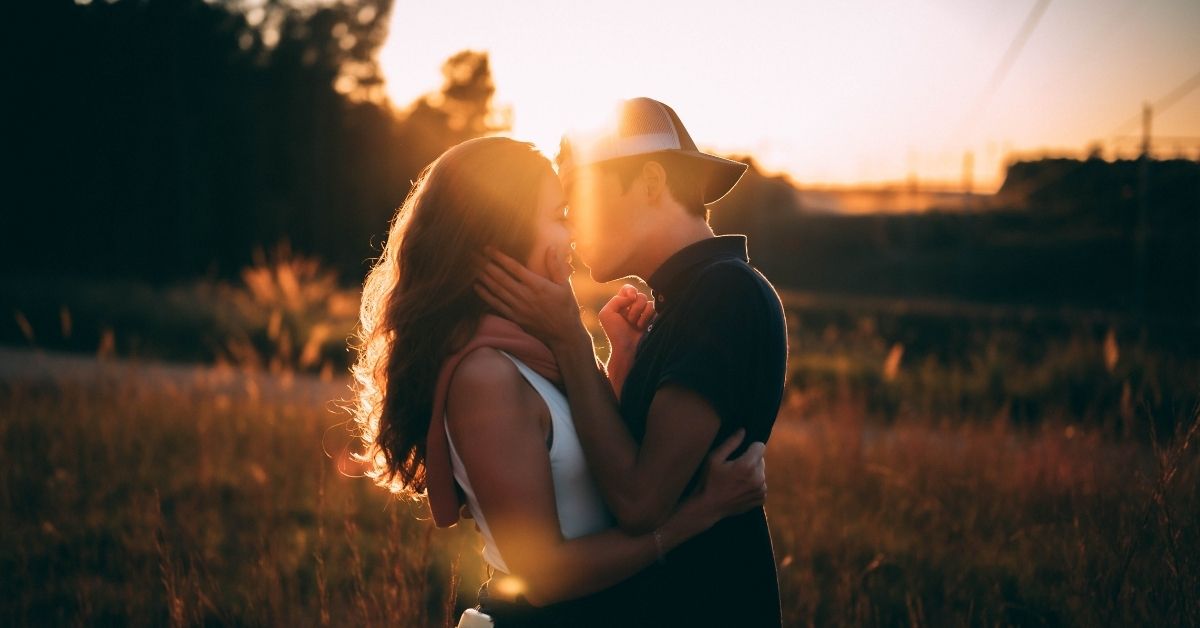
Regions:
<instances>
[{"instance_id":1,"label":"brown dry foreground grass to the left of the woman","mask_svg":"<svg viewBox=\"0 0 1200 628\"><path fill-rule=\"evenodd\" d=\"M0 385L0 624L437 626L460 554L472 594L469 531L343 473L336 385L211 373Z\"/></svg>"}]
</instances>

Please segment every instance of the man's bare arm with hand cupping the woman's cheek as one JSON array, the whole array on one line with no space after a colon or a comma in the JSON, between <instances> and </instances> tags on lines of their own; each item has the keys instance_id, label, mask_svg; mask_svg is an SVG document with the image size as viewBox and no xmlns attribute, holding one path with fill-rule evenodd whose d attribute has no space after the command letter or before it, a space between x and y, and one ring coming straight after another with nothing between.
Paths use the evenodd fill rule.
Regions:
<instances>
[{"instance_id":1,"label":"man's bare arm with hand cupping the woman's cheek","mask_svg":"<svg viewBox=\"0 0 1200 628\"><path fill-rule=\"evenodd\" d=\"M713 399L701 393L714 381L731 382L738 371L737 355L714 345L713 337L695 339L685 352L688 364L706 370L679 370L659 388L647 413L642 444L622 420L617 399L596 364L592 336L580 322L578 303L571 291L569 268L556 251L547 251L547 280L497 251L484 268L475 291L505 318L540 337L558 359L566 397L580 442L596 484L622 528L654 528L679 503L683 491L700 469L721 426ZM740 294L714 292L697 304L706 312L706 328L743 324ZM716 369L713 369L716 367ZM678 385L676 385L678 384Z\"/></svg>"}]
</instances>

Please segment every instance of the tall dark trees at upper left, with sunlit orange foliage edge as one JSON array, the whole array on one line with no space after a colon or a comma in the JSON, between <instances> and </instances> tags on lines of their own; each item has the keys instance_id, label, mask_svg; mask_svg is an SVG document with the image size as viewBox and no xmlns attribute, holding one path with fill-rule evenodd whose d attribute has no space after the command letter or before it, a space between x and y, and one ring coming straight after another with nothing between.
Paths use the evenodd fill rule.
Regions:
<instances>
[{"instance_id":1,"label":"tall dark trees at upper left, with sunlit orange foliage edge","mask_svg":"<svg viewBox=\"0 0 1200 628\"><path fill-rule=\"evenodd\" d=\"M8 14L10 273L233 275L289 240L354 280L420 169L494 127L484 53L386 101L391 0L77 1Z\"/></svg>"}]
</instances>

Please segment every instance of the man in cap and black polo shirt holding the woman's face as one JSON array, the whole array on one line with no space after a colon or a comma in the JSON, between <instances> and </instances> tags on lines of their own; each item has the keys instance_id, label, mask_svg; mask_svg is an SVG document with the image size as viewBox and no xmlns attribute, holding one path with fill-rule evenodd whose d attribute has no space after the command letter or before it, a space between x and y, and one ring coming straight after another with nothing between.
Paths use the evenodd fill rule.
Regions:
<instances>
[{"instance_id":1,"label":"man in cap and black polo shirt holding the woman's face","mask_svg":"<svg viewBox=\"0 0 1200 628\"><path fill-rule=\"evenodd\" d=\"M697 150L666 104L622 102L610 124L564 138L559 167L593 279L640 276L653 291L656 315L628 373L610 361L610 388L598 371L574 295L556 292L565 277L532 277L493 256L481 294L554 351L589 469L620 526L644 533L695 489L713 447L739 429L746 442L769 437L784 393L784 311L749 264L745 237L708 226L706 204L746 166ZM641 331L620 329L619 311L635 301L626 287L601 312L614 343ZM623 590L631 624L779 626L764 510L725 519Z\"/></svg>"}]
</instances>

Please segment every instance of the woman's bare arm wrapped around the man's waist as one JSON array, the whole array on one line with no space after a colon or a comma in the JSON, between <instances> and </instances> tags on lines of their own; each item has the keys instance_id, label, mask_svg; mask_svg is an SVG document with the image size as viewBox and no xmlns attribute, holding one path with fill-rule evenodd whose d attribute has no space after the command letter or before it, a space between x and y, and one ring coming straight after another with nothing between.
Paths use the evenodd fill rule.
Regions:
<instances>
[{"instance_id":1,"label":"woman's bare arm wrapped around the man's waist","mask_svg":"<svg viewBox=\"0 0 1200 628\"><path fill-rule=\"evenodd\" d=\"M539 420L547 412L516 366L492 349L463 359L450 383L446 419L455 449L500 555L511 575L522 580L532 604L607 588L653 563L660 550L668 551L724 516L762 503L764 486L739 480L744 469L734 469L740 474L718 474L725 478L720 486L690 497L656 534L608 530L564 540ZM738 465L724 460L736 445L732 442L714 453L720 457L713 463Z\"/></svg>"}]
</instances>

